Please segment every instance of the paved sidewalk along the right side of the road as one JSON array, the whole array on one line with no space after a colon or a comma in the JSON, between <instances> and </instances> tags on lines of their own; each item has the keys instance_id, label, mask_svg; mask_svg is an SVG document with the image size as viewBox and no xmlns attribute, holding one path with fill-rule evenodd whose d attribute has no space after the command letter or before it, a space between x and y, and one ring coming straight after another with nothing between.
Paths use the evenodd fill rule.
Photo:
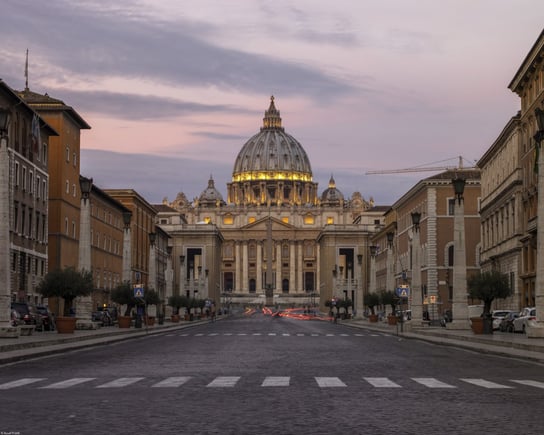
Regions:
<instances>
[{"instance_id":1,"label":"paved sidewalk along the right side of the road","mask_svg":"<svg viewBox=\"0 0 544 435\"><path fill-rule=\"evenodd\" d=\"M471 330L451 330L442 326L422 326L402 331L401 325L387 322L371 323L364 320L342 320L341 323L354 328L371 329L399 337L424 340L445 346L454 346L480 353L490 353L528 359L544 363L544 338L527 338L525 334L498 332L474 334Z\"/></svg>"}]
</instances>

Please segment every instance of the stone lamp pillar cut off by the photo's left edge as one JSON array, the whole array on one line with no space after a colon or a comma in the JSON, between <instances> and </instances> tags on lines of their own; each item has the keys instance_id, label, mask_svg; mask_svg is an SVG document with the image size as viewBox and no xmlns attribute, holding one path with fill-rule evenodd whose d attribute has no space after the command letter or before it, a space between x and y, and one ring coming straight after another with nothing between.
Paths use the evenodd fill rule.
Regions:
<instances>
[{"instance_id":1,"label":"stone lamp pillar cut off by the photo's left edge","mask_svg":"<svg viewBox=\"0 0 544 435\"><path fill-rule=\"evenodd\" d=\"M4 338L19 336L19 328L11 326L9 120L9 110L0 107L0 337Z\"/></svg>"}]
</instances>

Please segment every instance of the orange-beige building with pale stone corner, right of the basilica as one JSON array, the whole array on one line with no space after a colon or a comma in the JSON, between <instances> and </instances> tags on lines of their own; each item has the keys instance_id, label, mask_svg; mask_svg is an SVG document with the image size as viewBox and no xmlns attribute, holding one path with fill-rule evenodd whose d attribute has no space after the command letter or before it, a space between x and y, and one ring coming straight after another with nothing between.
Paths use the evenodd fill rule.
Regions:
<instances>
[{"instance_id":1,"label":"orange-beige building with pale stone corner, right of the basilica","mask_svg":"<svg viewBox=\"0 0 544 435\"><path fill-rule=\"evenodd\" d=\"M480 173L457 169L419 181L392 206L385 216L384 227L371 238L376 257L373 263L375 291L395 290L400 285L411 289L420 286L423 312L437 321L452 308L453 299L453 223L455 195L452 179L466 179L464 217L467 276L480 269ZM420 213L419 239L415 237L412 213ZM389 235L389 236L388 236ZM414 245L419 240L420 246ZM414 281L414 252L420 249L420 279ZM471 301L468 300L468 303Z\"/></svg>"}]
</instances>

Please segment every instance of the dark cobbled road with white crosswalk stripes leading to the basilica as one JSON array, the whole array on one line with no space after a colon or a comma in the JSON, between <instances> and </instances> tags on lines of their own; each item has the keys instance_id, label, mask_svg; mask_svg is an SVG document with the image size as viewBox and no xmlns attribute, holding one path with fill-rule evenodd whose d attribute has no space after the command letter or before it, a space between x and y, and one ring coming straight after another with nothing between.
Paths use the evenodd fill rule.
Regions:
<instances>
[{"instance_id":1,"label":"dark cobbled road with white crosswalk stripes leading to the basilica","mask_svg":"<svg viewBox=\"0 0 544 435\"><path fill-rule=\"evenodd\" d=\"M230 318L0 367L3 434L541 434L541 365Z\"/></svg>"}]
</instances>

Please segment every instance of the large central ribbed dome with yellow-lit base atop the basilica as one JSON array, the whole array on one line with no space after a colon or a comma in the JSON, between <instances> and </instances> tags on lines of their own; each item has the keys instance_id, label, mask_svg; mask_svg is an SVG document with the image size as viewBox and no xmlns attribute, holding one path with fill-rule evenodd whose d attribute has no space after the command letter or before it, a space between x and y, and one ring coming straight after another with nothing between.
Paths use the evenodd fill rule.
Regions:
<instances>
[{"instance_id":1,"label":"large central ribbed dome with yellow-lit base atop the basilica","mask_svg":"<svg viewBox=\"0 0 544 435\"><path fill-rule=\"evenodd\" d=\"M281 126L270 97L261 131L242 147L234 162L229 202L276 205L316 203L317 183L302 145Z\"/></svg>"}]
</instances>

